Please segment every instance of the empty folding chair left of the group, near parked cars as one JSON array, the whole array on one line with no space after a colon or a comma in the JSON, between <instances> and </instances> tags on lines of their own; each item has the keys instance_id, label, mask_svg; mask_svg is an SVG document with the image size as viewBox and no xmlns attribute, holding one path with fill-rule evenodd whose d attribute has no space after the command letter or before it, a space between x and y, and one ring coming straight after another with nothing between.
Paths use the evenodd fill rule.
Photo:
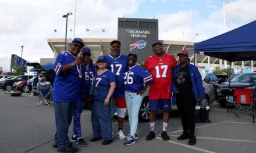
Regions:
<instances>
[{"instance_id":1,"label":"empty folding chair left of the group, near parked cars","mask_svg":"<svg viewBox=\"0 0 256 153\"><path fill-rule=\"evenodd\" d=\"M52 101L52 92L51 92L51 84L48 85L41 85L38 83L38 99L37 99L37 106L40 104L47 104L51 106Z\"/></svg>"}]
</instances>

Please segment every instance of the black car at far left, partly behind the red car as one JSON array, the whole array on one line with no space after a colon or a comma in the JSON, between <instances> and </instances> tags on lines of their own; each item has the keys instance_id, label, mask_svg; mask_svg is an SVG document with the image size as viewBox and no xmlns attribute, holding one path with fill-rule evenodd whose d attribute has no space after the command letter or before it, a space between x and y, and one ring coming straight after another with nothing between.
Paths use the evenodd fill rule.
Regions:
<instances>
[{"instance_id":1,"label":"black car at far left, partly behind the red car","mask_svg":"<svg viewBox=\"0 0 256 153\"><path fill-rule=\"evenodd\" d=\"M12 90L13 83L17 81L27 81L31 78L33 78L33 75L19 75L12 79L6 79L5 81L0 81L0 88L3 90Z\"/></svg>"}]
</instances>

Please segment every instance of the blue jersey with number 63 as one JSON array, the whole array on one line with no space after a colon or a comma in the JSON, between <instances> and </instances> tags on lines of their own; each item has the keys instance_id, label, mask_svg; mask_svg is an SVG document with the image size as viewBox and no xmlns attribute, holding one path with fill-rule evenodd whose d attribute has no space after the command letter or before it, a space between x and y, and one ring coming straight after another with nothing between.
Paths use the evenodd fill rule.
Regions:
<instances>
[{"instance_id":1,"label":"blue jersey with number 63","mask_svg":"<svg viewBox=\"0 0 256 153\"><path fill-rule=\"evenodd\" d=\"M93 63L88 63L88 65L81 64L82 68L82 82L80 88L80 99L85 99L89 93L89 88L91 86L91 82L94 78L94 65Z\"/></svg>"}]
</instances>

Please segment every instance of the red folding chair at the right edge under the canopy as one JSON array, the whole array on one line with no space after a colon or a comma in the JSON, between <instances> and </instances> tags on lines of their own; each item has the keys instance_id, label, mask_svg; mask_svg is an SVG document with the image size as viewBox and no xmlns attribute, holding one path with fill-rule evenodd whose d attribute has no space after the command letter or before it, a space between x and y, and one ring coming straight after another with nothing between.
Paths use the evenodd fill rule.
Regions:
<instances>
[{"instance_id":1,"label":"red folding chair at the right edge under the canopy","mask_svg":"<svg viewBox=\"0 0 256 153\"><path fill-rule=\"evenodd\" d=\"M253 123L255 123L255 101L252 89L234 89L234 115L239 116L239 111L249 111L250 115L253 116ZM253 114L251 114L253 112Z\"/></svg>"}]
</instances>

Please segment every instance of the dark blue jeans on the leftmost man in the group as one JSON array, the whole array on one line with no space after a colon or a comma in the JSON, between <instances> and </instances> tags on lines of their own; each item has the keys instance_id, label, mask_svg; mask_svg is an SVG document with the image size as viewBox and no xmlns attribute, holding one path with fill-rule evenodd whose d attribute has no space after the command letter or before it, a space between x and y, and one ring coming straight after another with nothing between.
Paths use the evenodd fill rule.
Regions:
<instances>
[{"instance_id":1,"label":"dark blue jeans on the leftmost man in the group","mask_svg":"<svg viewBox=\"0 0 256 153\"><path fill-rule=\"evenodd\" d=\"M54 114L56 123L56 133L54 136L54 145L58 145L58 148L66 148L71 142L69 140L69 125L72 122L72 116L74 111L74 104L65 102L54 103Z\"/></svg>"}]
</instances>

